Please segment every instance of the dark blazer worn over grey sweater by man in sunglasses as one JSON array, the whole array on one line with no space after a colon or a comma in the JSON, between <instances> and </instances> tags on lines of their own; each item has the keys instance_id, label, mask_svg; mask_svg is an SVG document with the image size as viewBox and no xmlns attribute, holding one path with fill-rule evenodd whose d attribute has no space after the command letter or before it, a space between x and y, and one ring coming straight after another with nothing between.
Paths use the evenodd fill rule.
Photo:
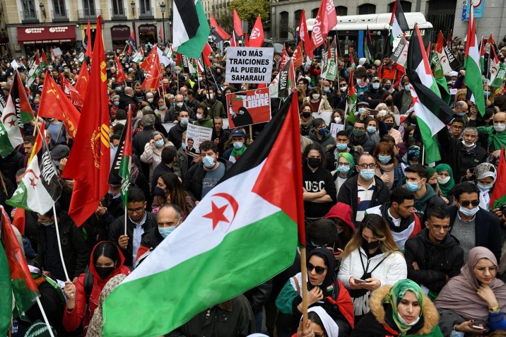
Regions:
<instances>
[{"instance_id":1,"label":"dark blazer worn over grey sweater by man in sunglasses","mask_svg":"<svg viewBox=\"0 0 506 337\"><path fill-rule=\"evenodd\" d=\"M479 207L479 206L478 206ZM458 207L452 206L448 208L450 214L450 233L453 228L453 223L457 216ZM479 209L476 213L475 224L475 247L481 246L488 248L495 256L497 261L501 258L501 229L499 226L499 218L494 214L486 211L485 209ZM478 228L479 226L479 228Z\"/></svg>"}]
</instances>

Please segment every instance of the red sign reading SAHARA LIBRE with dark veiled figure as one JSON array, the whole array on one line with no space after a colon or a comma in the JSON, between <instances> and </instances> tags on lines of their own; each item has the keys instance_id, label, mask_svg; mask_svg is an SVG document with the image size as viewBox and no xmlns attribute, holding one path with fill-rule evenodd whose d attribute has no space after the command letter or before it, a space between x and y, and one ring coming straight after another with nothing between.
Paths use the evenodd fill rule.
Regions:
<instances>
[{"instance_id":1,"label":"red sign reading SAHARA LIBRE with dark veiled figure","mask_svg":"<svg viewBox=\"0 0 506 337\"><path fill-rule=\"evenodd\" d=\"M269 122L269 88L233 92L226 95L229 128Z\"/></svg>"}]
</instances>

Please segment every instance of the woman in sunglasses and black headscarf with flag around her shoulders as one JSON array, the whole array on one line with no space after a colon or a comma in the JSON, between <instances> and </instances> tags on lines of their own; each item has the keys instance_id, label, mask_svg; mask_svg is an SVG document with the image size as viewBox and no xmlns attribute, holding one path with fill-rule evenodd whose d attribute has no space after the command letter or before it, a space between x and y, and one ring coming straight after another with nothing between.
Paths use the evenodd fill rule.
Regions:
<instances>
[{"instance_id":1,"label":"woman in sunglasses and black headscarf with flag around her shoulders","mask_svg":"<svg viewBox=\"0 0 506 337\"><path fill-rule=\"evenodd\" d=\"M325 336L341 337L348 336L353 329L353 303L346 288L336 278L335 263L330 249L316 248L309 254L308 306L323 308L338 327L338 335L324 334ZM302 317L302 273L286 282L276 300L276 306L280 310L276 321L278 336L290 337L297 331Z\"/></svg>"}]
</instances>

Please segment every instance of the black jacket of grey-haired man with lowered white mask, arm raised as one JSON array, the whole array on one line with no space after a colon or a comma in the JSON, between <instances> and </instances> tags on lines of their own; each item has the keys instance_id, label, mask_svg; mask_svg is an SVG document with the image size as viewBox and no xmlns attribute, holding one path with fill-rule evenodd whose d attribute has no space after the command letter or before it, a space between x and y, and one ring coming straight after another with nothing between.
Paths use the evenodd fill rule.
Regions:
<instances>
[{"instance_id":1,"label":"black jacket of grey-haired man with lowered white mask, arm raised","mask_svg":"<svg viewBox=\"0 0 506 337\"><path fill-rule=\"evenodd\" d=\"M462 139L451 137L446 128L438 132L438 140L444 151L441 158L450 165L455 181L465 176L468 168L473 171L474 167L487 159L487 151L484 148L476 146L468 152Z\"/></svg>"}]
</instances>

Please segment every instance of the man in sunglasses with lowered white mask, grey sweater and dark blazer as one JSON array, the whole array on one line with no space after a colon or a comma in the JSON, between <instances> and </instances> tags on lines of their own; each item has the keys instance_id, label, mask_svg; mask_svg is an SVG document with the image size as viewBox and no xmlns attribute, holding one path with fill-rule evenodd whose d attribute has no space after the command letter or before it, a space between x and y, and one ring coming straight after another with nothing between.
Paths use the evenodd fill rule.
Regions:
<instances>
[{"instance_id":1,"label":"man in sunglasses with lowered white mask, grey sweater and dark blazer","mask_svg":"<svg viewBox=\"0 0 506 337\"><path fill-rule=\"evenodd\" d=\"M448 208L450 233L460 242L464 260L477 246L490 249L496 258L501 256L501 232L499 219L488 210L480 208L478 187L471 182L453 188L456 206Z\"/></svg>"}]
</instances>

